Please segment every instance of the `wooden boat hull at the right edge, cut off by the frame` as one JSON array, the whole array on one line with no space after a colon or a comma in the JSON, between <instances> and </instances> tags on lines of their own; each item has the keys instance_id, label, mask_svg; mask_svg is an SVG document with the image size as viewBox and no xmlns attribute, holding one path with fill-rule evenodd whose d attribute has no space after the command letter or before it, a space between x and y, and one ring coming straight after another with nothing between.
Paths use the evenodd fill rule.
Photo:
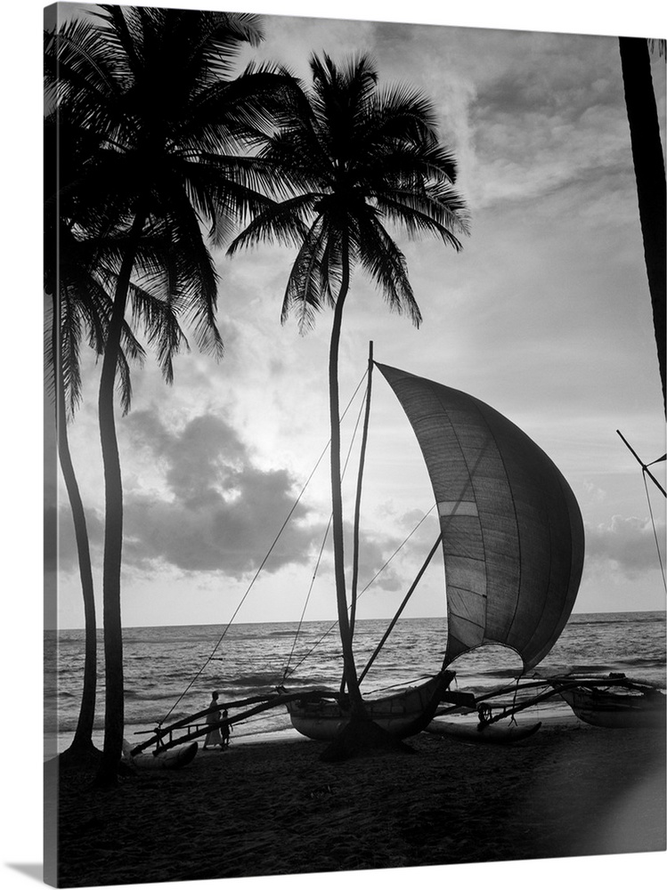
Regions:
<instances>
[{"instance_id":1,"label":"wooden boat hull at the right edge, cut off by the frame","mask_svg":"<svg viewBox=\"0 0 667 890\"><path fill-rule=\"evenodd\" d=\"M607 729L664 729L665 697L652 690L562 689L560 695L584 723Z\"/></svg>"}]
</instances>

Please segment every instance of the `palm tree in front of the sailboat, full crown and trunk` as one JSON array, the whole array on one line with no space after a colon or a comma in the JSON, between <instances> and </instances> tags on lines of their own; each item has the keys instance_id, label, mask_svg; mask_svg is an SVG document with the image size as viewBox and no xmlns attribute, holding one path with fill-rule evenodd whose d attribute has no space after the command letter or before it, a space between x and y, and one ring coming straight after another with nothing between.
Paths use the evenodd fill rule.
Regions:
<instances>
[{"instance_id":1,"label":"palm tree in front of the sailboat, full crown and trunk","mask_svg":"<svg viewBox=\"0 0 667 890\"><path fill-rule=\"evenodd\" d=\"M260 156L281 174L291 194L258 214L232 241L239 247L276 239L296 244L281 319L295 310L302 330L324 303L334 310L329 346L331 497L338 623L354 717L364 708L349 627L340 480L338 344L350 277L358 264L393 312L421 315L400 249L385 223L409 235L435 235L460 250L467 231L463 201L452 189L455 164L438 142L435 109L404 86L383 92L366 56L338 67L313 55L313 85L285 104L278 132Z\"/></svg>"}]
</instances>

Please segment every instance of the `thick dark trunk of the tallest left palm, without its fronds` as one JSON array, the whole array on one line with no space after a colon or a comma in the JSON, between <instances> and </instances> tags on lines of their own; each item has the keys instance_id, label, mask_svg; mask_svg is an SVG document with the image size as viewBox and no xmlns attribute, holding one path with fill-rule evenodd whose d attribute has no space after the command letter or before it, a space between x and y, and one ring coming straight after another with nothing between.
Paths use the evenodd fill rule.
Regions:
<instances>
[{"instance_id":1,"label":"thick dark trunk of the tallest left palm, without its fronds","mask_svg":"<svg viewBox=\"0 0 667 890\"><path fill-rule=\"evenodd\" d=\"M114 389L120 351L120 335L125 319L127 293L134 267L145 215L134 216L126 255L120 267L113 310L102 361L98 411L102 463L104 465L104 566L102 575L104 615L104 748L97 783L117 781L123 751L125 690L123 682L123 628L120 616L120 570L123 551L123 481L120 472L118 436L114 412Z\"/></svg>"}]
</instances>

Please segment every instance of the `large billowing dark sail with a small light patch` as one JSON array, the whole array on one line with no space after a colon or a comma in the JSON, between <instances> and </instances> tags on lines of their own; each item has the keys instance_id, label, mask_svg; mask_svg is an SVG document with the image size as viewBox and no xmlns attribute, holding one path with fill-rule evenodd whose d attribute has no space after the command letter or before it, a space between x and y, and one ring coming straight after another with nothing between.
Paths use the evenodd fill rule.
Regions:
<instances>
[{"instance_id":1,"label":"large billowing dark sail with a small light patch","mask_svg":"<svg viewBox=\"0 0 667 890\"><path fill-rule=\"evenodd\" d=\"M553 461L516 425L465 392L377 366L414 429L443 531L445 663L484 643L525 669L570 616L583 566L582 514Z\"/></svg>"}]
</instances>

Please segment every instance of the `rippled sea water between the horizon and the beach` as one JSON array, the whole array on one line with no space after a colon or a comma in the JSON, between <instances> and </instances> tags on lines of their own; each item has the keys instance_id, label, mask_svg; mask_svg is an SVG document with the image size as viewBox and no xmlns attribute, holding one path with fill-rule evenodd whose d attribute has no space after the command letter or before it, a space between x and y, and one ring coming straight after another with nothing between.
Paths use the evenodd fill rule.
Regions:
<instances>
[{"instance_id":1,"label":"rippled sea water between the horizon and the beach","mask_svg":"<svg viewBox=\"0 0 667 890\"><path fill-rule=\"evenodd\" d=\"M298 634L297 634L298 630ZM386 630L386 621L360 620L354 654L361 671ZM84 675L84 631L47 632L45 639L45 754L67 748L77 725ZM365 694L419 683L441 667L445 619L402 619L363 682ZM124 631L126 739L131 745L219 703L313 686L337 689L342 674L338 627L331 622L240 624L231 627L129 627ZM102 747L104 666L99 635L94 743ZM517 654L485 646L457 659L452 689L490 692L521 670ZM608 674L619 671L665 685L665 613L620 612L573 615L539 666L541 674ZM567 708L564 702L557 707ZM230 715L232 716L232 714ZM289 732L285 708L273 708L235 724L232 740Z\"/></svg>"}]
</instances>

